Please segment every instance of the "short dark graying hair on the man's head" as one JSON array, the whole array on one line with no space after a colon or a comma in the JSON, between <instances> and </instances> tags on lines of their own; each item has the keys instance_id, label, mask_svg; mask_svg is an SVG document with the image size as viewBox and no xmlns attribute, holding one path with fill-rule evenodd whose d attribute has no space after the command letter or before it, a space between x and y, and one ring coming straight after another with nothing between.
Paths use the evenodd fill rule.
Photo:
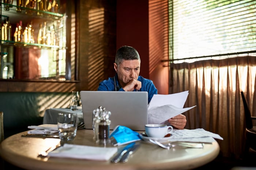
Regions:
<instances>
[{"instance_id":1,"label":"short dark graying hair on the man's head","mask_svg":"<svg viewBox=\"0 0 256 170\"><path fill-rule=\"evenodd\" d=\"M123 62L123 60L139 60L140 62L140 55L138 51L129 46L122 46L116 52L116 59L115 63L117 66Z\"/></svg>"}]
</instances>

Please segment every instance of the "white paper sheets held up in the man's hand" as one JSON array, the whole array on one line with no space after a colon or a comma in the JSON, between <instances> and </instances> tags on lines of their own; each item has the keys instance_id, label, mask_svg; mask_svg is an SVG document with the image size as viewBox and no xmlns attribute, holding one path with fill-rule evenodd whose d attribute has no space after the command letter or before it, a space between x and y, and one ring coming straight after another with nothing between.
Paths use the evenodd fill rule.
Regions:
<instances>
[{"instance_id":1,"label":"white paper sheets held up in the man's hand","mask_svg":"<svg viewBox=\"0 0 256 170\"><path fill-rule=\"evenodd\" d=\"M164 123L193 107L183 108L188 97L188 91L161 95L155 94L148 104L148 123Z\"/></svg>"}]
</instances>

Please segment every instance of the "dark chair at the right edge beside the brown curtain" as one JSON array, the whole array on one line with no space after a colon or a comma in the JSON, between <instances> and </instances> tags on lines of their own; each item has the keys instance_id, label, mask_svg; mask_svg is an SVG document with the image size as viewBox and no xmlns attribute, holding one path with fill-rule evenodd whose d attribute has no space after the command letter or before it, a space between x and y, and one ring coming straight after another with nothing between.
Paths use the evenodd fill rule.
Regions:
<instances>
[{"instance_id":1,"label":"dark chair at the right edge beside the brown curtain","mask_svg":"<svg viewBox=\"0 0 256 170\"><path fill-rule=\"evenodd\" d=\"M256 117L251 116L247 100L245 99L244 92L241 91L242 100L244 103L245 113L245 155L248 155L249 150L253 149L256 152L256 126L253 126L252 120Z\"/></svg>"}]
</instances>

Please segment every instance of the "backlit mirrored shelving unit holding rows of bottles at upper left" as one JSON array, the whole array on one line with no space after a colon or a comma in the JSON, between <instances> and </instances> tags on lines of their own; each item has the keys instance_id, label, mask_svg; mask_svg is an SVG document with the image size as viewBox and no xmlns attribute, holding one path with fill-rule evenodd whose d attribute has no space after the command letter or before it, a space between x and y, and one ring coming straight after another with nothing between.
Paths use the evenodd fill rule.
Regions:
<instances>
[{"instance_id":1,"label":"backlit mirrored shelving unit holding rows of bottles at upper left","mask_svg":"<svg viewBox=\"0 0 256 170\"><path fill-rule=\"evenodd\" d=\"M0 36L0 79L63 79L67 48L65 15L2 2L0 14L1 27L5 20L12 26L10 39ZM14 40L15 27L20 21L23 30L29 23L33 24L33 43ZM38 43L39 25L45 22L47 30L54 25L56 44Z\"/></svg>"}]
</instances>

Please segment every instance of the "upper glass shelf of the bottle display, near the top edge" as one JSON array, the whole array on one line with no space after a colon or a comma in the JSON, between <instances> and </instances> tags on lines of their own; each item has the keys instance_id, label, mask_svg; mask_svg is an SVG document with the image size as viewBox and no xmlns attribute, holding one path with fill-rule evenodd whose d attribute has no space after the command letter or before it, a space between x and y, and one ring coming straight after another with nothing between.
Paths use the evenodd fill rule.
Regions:
<instances>
[{"instance_id":1,"label":"upper glass shelf of the bottle display, near the top edge","mask_svg":"<svg viewBox=\"0 0 256 170\"><path fill-rule=\"evenodd\" d=\"M33 9L33 8L26 8L26 7L20 7L17 5L11 5L11 4L6 4L6 3L1 3L2 8L4 9L2 11L2 13L16 13L16 14L23 14L23 15L32 15L32 16L36 16L36 17L48 17L48 18L52 18L52 19L59 19L61 17L63 17L63 14L61 13L54 13L54 12L48 12L48 11L39 11L37 9ZM9 6L9 10L5 10L4 6L8 5ZM22 9L20 12L16 11L16 8L20 8Z\"/></svg>"}]
</instances>

